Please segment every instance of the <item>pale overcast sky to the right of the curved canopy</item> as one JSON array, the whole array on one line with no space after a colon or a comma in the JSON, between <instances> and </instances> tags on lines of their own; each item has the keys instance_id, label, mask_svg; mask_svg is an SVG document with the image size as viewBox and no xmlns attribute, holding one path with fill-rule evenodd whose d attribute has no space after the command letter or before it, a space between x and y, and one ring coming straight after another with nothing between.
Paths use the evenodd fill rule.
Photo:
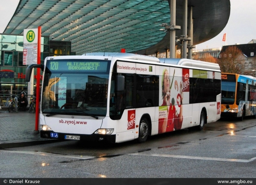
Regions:
<instances>
[{"instance_id":1,"label":"pale overcast sky to the right of the curved canopy","mask_svg":"<svg viewBox=\"0 0 256 185\"><path fill-rule=\"evenodd\" d=\"M198 44L197 49L218 48L226 33L227 45L245 44L256 39L256 0L230 0L230 17L226 27L215 38Z\"/></svg>"}]
</instances>

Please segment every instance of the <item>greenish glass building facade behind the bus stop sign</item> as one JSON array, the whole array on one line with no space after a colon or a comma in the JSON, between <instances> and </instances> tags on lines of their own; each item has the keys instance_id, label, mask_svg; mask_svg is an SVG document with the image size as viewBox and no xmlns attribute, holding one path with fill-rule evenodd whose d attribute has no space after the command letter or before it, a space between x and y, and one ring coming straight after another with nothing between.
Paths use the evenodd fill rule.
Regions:
<instances>
[{"instance_id":1,"label":"greenish glass building facade behind the bus stop sign","mask_svg":"<svg viewBox=\"0 0 256 185\"><path fill-rule=\"evenodd\" d=\"M10 94L27 92L25 73L28 65L23 65L23 35L0 34L0 50L0 103L3 105L3 93L6 89ZM44 59L48 56L71 54L76 55L71 52L70 41L50 41L49 37L41 37L41 64L44 64ZM34 70L34 76L36 74L37 70Z\"/></svg>"}]
</instances>

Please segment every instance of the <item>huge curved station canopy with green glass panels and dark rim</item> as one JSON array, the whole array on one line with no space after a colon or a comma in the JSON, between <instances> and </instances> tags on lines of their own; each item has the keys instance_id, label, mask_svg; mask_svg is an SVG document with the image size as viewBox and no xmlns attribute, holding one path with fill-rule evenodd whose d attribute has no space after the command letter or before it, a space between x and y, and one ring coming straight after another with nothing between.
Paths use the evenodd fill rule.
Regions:
<instances>
[{"instance_id":1,"label":"huge curved station canopy with green glass panels and dark rim","mask_svg":"<svg viewBox=\"0 0 256 185\"><path fill-rule=\"evenodd\" d=\"M218 35L230 16L230 0L188 0L193 7L193 45ZM176 0L176 37L182 35L183 0ZM76 55L126 52L152 55L170 47L170 0L20 0L4 34L23 35L41 26L41 35L72 42Z\"/></svg>"}]
</instances>

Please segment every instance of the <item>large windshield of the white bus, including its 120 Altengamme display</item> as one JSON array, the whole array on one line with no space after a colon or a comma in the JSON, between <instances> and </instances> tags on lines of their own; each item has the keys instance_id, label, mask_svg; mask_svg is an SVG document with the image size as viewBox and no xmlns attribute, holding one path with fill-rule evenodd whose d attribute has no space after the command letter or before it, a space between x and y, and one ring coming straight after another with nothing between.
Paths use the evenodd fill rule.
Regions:
<instances>
[{"instance_id":1,"label":"large windshield of the white bus, including its 120 Altengamme display","mask_svg":"<svg viewBox=\"0 0 256 185\"><path fill-rule=\"evenodd\" d=\"M106 116L109 64L81 59L47 61L42 113Z\"/></svg>"}]
</instances>

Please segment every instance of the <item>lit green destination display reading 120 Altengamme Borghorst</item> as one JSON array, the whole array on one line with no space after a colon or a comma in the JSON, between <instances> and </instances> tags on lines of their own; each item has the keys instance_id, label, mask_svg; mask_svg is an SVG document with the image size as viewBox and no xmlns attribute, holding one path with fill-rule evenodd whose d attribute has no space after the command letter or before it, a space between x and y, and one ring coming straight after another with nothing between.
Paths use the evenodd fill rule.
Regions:
<instances>
[{"instance_id":1,"label":"lit green destination display reading 120 Altengamme Borghorst","mask_svg":"<svg viewBox=\"0 0 256 185\"><path fill-rule=\"evenodd\" d=\"M106 72L108 61L47 61L51 71Z\"/></svg>"}]
</instances>

